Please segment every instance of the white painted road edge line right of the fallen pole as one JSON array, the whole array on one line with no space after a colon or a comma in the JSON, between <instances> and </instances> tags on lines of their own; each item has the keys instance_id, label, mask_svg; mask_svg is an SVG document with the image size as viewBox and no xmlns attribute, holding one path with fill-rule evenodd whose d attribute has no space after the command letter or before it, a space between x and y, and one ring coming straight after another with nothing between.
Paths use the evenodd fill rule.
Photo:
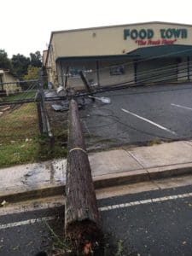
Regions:
<instances>
[{"instance_id":1,"label":"white painted road edge line right of the fallen pole","mask_svg":"<svg viewBox=\"0 0 192 256\"><path fill-rule=\"evenodd\" d=\"M186 194L180 194L180 195L168 195L168 196L151 198L151 199L142 200L142 201L131 201L131 202L126 202L126 203L121 203L119 205L100 207L99 211L104 212L104 211L109 211L109 210L118 209L118 208L135 207L135 206L139 206L139 205L146 205L146 204L151 204L151 203L156 203L156 202L172 201L172 200L186 198L186 197L190 197L190 196L192 196L192 193L186 193Z\"/></svg>"}]
</instances>

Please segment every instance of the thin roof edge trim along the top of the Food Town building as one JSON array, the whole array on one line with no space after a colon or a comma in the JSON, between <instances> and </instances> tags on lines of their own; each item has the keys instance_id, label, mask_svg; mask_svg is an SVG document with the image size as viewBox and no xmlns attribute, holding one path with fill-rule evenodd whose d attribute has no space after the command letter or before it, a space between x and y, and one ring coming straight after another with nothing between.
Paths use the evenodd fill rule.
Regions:
<instances>
[{"instance_id":1,"label":"thin roof edge trim along the top of the Food Town building","mask_svg":"<svg viewBox=\"0 0 192 256\"><path fill-rule=\"evenodd\" d=\"M52 31L50 33L50 40L49 45L51 44L52 38L54 34L63 33L63 32L80 32L80 31L89 31L89 30L97 30L97 29L106 29L106 28L113 28L113 27L121 27L121 26L139 26L139 25L150 25L150 24L172 24L177 26L192 26L190 24L182 24L182 23L174 23L174 22L166 22L166 21L148 21L148 22L138 22L138 23L130 23L130 24L119 24L119 25L109 25L109 26L92 26L92 27L84 27L84 28L77 28L77 29L69 29L69 30L61 30L61 31ZM49 57L49 46L48 46L48 54L45 61L45 66L47 65L48 57Z\"/></svg>"}]
</instances>

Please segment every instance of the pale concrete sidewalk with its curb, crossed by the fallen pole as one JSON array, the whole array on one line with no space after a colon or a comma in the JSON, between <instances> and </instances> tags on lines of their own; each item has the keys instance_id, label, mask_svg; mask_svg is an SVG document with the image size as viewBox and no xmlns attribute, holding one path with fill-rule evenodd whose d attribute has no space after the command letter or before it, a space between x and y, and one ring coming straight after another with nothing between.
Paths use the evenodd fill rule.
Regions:
<instances>
[{"instance_id":1,"label":"pale concrete sidewalk with its curb, crossed by the fallen pole","mask_svg":"<svg viewBox=\"0 0 192 256\"><path fill-rule=\"evenodd\" d=\"M96 188L192 173L192 141L89 154ZM0 169L0 202L64 194L67 160Z\"/></svg>"}]
</instances>

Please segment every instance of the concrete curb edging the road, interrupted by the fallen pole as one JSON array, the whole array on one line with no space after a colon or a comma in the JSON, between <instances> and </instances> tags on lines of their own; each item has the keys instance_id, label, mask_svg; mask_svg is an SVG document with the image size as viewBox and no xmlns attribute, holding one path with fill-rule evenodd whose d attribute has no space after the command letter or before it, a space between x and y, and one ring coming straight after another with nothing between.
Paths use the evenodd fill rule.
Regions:
<instances>
[{"instance_id":1,"label":"concrete curb edging the road, interrupted by the fallen pole","mask_svg":"<svg viewBox=\"0 0 192 256\"><path fill-rule=\"evenodd\" d=\"M140 169L130 172L119 172L108 175L93 177L96 189L118 186L129 183L139 183L160 179L165 177L176 177L185 174L192 174L192 163L153 167L147 170ZM3 200L10 202L27 201L54 195L65 195L65 184L55 186L36 186L30 189L11 188L0 192L0 202Z\"/></svg>"}]
</instances>

